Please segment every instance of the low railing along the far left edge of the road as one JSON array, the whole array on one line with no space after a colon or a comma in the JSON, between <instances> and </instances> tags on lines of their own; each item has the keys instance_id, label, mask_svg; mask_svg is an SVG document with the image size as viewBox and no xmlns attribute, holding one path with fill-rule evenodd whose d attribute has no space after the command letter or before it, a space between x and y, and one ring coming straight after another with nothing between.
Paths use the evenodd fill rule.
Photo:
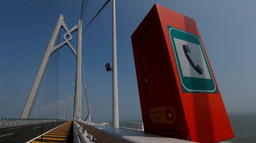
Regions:
<instances>
[{"instance_id":1,"label":"low railing along the far left edge of the road","mask_svg":"<svg viewBox=\"0 0 256 143\"><path fill-rule=\"evenodd\" d=\"M25 124L37 124L37 123L47 123L55 121L64 121L63 119L35 119L35 118L2 118L0 120L0 128L19 126Z\"/></svg>"}]
</instances>

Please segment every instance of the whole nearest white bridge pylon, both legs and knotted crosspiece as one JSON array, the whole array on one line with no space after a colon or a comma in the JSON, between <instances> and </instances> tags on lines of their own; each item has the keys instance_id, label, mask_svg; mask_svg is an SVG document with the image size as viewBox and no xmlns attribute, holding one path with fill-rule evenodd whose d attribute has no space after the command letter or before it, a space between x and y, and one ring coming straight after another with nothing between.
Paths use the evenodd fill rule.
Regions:
<instances>
[{"instance_id":1,"label":"whole nearest white bridge pylon, both legs and knotted crosspiece","mask_svg":"<svg viewBox=\"0 0 256 143\"><path fill-rule=\"evenodd\" d=\"M45 51L45 54L43 56L42 62L40 64L40 67L38 69L38 72L36 74L35 80L33 82L33 85L30 89L28 98L26 100L26 104L23 108L21 118L29 118L33 105L35 103L36 96L38 94L40 85L42 83L43 76L45 74L45 70L48 66L48 62L50 59L50 56L57 50L59 50L64 45L67 45L69 49L73 52L74 56L76 57L76 86L75 86L75 95L74 95L74 119L80 119L81 118L81 50L82 50L82 20L78 20L78 24L76 24L72 29L67 29L67 26L64 22L63 15L59 16L59 19L56 23L54 32L52 34L52 37L49 41L49 44L47 46L47 50ZM60 34L60 30L63 28L66 33L63 35L64 41L61 42L59 45L55 46L56 40L58 35ZM77 39L77 50L74 49L74 47L70 44L70 41L72 40L72 33L77 31L78 33L78 39ZM68 39L67 39L68 38Z\"/></svg>"}]
</instances>

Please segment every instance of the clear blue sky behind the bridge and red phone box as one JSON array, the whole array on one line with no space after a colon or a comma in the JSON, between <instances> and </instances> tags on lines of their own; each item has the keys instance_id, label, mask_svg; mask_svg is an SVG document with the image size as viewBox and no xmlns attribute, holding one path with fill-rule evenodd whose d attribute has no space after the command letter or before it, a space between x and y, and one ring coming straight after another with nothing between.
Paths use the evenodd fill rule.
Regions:
<instances>
[{"instance_id":1,"label":"clear blue sky behind the bridge and red phone box","mask_svg":"<svg viewBox=\"0 0 256 143\"><path fill-rule=\"evenodd\" d=\"M0 32L0 82L22 64L28 57L46 42L11 61L2 64L11 57L29 49L33 45L50 37L55 27L56 17L47 16L30 0L23 0L33 6L37 12L22 1L4 0L19 10L0 3L0 31L45 31L40 33ZM40 5L38 0L35 0ZM64 22L71 29L78 23L81 13L81 0L50 0L56 13L64 16ZM92 19L105 0L88 0L83 27ZM256 2L253 0L116 0L116 34L118 55L118 98L120 121L141 121L140 101L137 77L131 45L131 35L138 27L154 3L182 13L195 20L211 63L220 93L228 114L256 113L256 67L254 66L256 49ZM43 9L43 7L41 7ZM23 12L21 12L22 10ZM24 12L28 13L25 14ZM7 19L10 17L12 19ZM23 23L17 20L30 22ZM36 25L35 25L36 24ZM43 26L42 26L43 25ZM48 27L48 28L46 28ZM64 32L61 32L61 39ZM48 35L46 37L42 37ZM71 44L76 47L76 33ZM40 39L10 45L24 40ZM31 57L7 80L0 83L0 100L12 89L21 75L39 56L40 50ZM86 87L90 103L90 112L94 121L112 120L112 73L106 72L105 64L112 65L112 1L83 32L82 56L85 66ZM22 90L22 87L36 68L31 66L28 73L11 90L7 99L0 104L0 118L4 118ZM67 95L74 94L76 59L67 46L59 51L59 118L63 117ZM9 118L18 118L23 108L35 74L12 108ZM84 86L84 84L83 84ZM40 92L39 92L40 93ZM82 114L87 114L85 94L82 93ZM31 117L39 109L40 95L36 98ZM72 106L68 108L68 119L72 119Z\"/></svg>"}]
</instances>

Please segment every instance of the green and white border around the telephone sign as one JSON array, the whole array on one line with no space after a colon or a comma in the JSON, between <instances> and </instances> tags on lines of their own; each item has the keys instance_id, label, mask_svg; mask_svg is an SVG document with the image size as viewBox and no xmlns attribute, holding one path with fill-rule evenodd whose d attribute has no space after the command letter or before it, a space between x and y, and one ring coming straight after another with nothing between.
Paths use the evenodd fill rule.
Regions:
<instances>
[{"instance_id":1,"label":"green and white border around the telephone sign","mask_svg":"<svg viewBox=\"0 0 256 143\"><path fill-rule=\"evenodd\" d=\"M168 32L169 32L169 36L170 36L170 40L171 40L171 45L173 47L173 53L175 55L175 60L176 60L176 65L177 65L177 69L178 69L178 74L179 74L179 77L180 77L180 82L182 84L182 91L185 92L185 93L218 93L218 90L216 90L216 84L215 84L215 81L213 79L213 75L211 73L211 69L209 68L209 63L208 63L208 60L206 59L206 55L205 55L205 52L204 52L204 49L202 48L202 43L201 43L201 40L199 39L199 36L197 35L194 35L194 34L191 34L189 32L186 32L186 31L183 31L183 30L180 30L180 29L176 29L175 27L171 27L169 25L167 25L167 28L168 28ZM183 33L186 33L186 34L189 34L189 35L192 35L194 37L196 37L199 42L200 42L200 47L201 47L201 50L202 50L202 53L203 53L203 56L204 56L204 60L206 61L206 64L208 66L208 70L209 70L209 73L210 73L210 76L211 76L211 80L213 81L214 83L214 89L213 90L197 90L197 89L188 89L184 84L183 84L183 81L182 81L182 75L181 75L181 69L180 69L180 66L179 66L179 61L177 59L177 53L176 53L176 50L175 50L175 45L174 45L174 40L173 40L173 37L171 35L171 30L172 29L175 29L175 30L178 30L180 32L183 32ZM185 90L184 90L185 89Z\"/></svg>"}]
</instances>

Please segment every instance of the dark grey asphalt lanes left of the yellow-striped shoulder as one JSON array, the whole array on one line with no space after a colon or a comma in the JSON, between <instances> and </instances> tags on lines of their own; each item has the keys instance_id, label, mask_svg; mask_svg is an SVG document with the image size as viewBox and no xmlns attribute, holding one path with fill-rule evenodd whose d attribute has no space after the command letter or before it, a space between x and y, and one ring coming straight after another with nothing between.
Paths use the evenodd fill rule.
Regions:
<instances>
[{"instance_id":1,"label":"dark grey asphalt lanes left of the yellow-striped shoulder","mask_svg":"<svg viewBox=\"0 0 256 143\"><path fill-rule=\"evenodd\" d=\"M0 143L25 143L67 121L0 128Z\"/></svg>"}]
</instances>

